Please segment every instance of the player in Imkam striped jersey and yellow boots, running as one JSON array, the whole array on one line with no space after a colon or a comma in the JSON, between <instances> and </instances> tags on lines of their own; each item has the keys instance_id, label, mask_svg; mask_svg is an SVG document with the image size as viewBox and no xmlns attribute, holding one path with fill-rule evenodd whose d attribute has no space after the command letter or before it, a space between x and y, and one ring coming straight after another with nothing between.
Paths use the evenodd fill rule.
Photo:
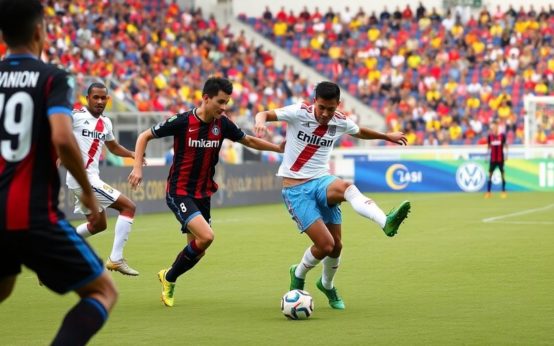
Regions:
<instances>
[{"instance_id":1,"label":"player in Imkam striped jersey and yellow boots, running","mask_svg":"<svg viewBox=\"0 0 554 346\"><path fill-rule=\"evenodd\" d=\"M173 136L173 164L169 170L166 202L187 234L187 245L169 269L158 273L162 283L162 302L174 304L177 278L192 269L214 239L210 226L210 198L217 191L213 180L219 150L225 138L258 150L282 152L282 148L248 136L224 114L233 85L224 78L209 78L202 90L202 105L161 122L140 134L135 146L143 155L148 141ZM129 183L136 188L142 181L142 167L135 162Z\"/></svg>"}]
</instances>

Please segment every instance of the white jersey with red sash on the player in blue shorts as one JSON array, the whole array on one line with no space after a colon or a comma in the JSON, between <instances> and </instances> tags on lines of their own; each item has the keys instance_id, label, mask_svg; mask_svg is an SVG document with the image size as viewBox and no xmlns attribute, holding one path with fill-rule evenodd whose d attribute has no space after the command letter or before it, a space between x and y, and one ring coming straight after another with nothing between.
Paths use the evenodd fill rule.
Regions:
<instances>
[{"instance_id":1,"label":"white jersey with red sash on the player in blue shorts","mask_svg":"<svg viewBox=\"0 0 554 346\"><path fill-rule=\"evenodd\" d=\"M329 159L335 141L343 134L356 134L358 125L335 112L327 125L315 119L314 106L304 103L275 110L277 120L287 122L287 144L277 175L314 179L329 174Z\"/></svg>"}]
</instances>

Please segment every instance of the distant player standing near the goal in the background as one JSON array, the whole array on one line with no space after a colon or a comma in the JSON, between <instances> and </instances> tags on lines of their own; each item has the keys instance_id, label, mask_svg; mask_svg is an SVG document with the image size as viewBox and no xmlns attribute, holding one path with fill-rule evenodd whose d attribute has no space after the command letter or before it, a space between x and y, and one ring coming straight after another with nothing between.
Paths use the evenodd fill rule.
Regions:
<instances>
[{"instance_id":1,"label":"distant player standing near the goal in the background","mask_svg":"<svg viewBox=\"0 0 554 346\"><path fill-rule=\"evenodd\" d=\"M491 131L487 137L487 156L489 157L489 180L487 181L487 192L485 198L491 197L492 187L492 174L498 168L502 177L502 193L501 198L506 198L506 178L504 176L504 161L508 156L508 143L506 142L506 135L500 133L498 128L498 122L493 121L491 123Z\"/></svg>"}]
</instances>

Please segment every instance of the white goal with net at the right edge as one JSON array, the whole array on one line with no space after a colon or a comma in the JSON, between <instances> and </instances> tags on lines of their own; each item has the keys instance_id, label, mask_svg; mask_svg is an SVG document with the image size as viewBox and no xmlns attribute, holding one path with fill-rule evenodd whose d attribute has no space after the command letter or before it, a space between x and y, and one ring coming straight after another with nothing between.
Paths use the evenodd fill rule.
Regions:
<instances>
[{"instance_id":1,"label":"white goal with net at the right edge","mask_svg":"<svg viewBox=\"0 0 554 346\"><path fill-rule=\"evenodd\" d=\"M554 96L526 96L525 145L554 144Z\"/></svg>"}]
</instances>

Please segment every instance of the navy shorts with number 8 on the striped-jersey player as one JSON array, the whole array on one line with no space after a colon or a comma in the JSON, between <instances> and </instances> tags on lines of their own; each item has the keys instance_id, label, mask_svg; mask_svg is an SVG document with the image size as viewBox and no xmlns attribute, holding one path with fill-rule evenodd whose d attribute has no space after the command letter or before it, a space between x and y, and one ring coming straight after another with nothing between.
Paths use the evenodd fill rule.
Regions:
<instances>
[{"instance_id":1,"label":"navy shorts with number 8 on the striped-jersey player","mask_svg":"<svg viewBox=\"0 0 554 346\"><path fill-rule=\"evenodd\" d=\"M210 215L211 198L192 198L188 196L172 196L167 194L165 196L167 206L177 221L181 224L181 232L190 233L187 229L187 225L190 220L194 219L198 215L202 215L206 222L211 225L212 216Z\"/></svg>"}]
</instances>

